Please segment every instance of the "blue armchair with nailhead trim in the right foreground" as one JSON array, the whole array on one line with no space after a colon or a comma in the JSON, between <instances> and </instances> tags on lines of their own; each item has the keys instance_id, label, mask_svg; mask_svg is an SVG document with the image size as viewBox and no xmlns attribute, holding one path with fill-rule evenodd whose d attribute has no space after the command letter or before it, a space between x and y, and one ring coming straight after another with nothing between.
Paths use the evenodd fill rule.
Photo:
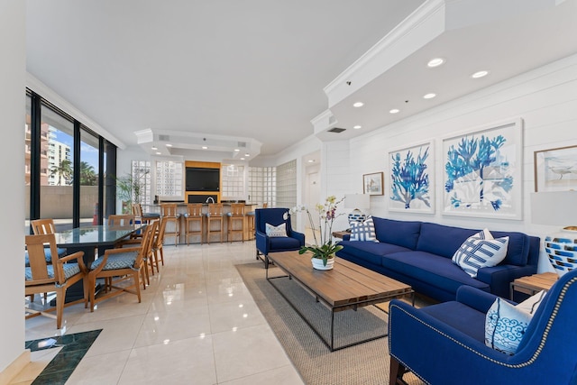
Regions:
<instances>
[{"instance_id":1,"label":"blue armchair with nailhead trim in the right foreground","mask_svg":"<svg viewBox=\"0 0 577 385\"><path fill-rule=\"evenodd\" d=\"M462 286L455 301L430 307L392 300L389 383L403 383L406 371L428 384L577 383L577 270L549 290L513 355L484 343L495 298Z\"/></svg>"}]
</instances>

